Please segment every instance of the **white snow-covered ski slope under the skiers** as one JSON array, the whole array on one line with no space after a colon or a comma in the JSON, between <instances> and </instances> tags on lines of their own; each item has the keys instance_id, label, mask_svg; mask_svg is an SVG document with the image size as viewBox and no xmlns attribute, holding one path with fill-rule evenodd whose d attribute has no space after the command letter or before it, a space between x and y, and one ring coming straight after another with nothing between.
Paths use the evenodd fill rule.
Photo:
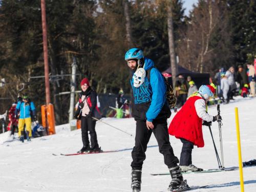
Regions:
<instances>
[{"instance_id":1,"label":"white snow-covered ski slope under the skiers","mask_svg":"<svg viewBox=\"0 0 256 192\"><path fill-rule=\"evenodd\" d=\"M239 109L242 160L256 159L256 99L238 98L232 103L221 105L223 118L222 138L225 167L238 167L238 147L234 108ZM216 115L216 106L208 108L209 114ZM174 115L168 120L169 122ZM105 118L119 129L135 135L135 121L130 119ZM134 137L97 122L96 131L99 145L103 150L132 148ZM0 135L0 191L131 191L131 150L78 156L60 156L60 153L75 153L82 146L81 131L70 131L69 124L56 127L56 135L32 139L31 142L5 142L8 134ZM218 124L212 123L212 133L218 150ZM193 164L204 169L218 168L214 146L208 127L203 127L205 146L194 148ZM175 155L179 158L182 144L170 137ZM148 146L157 145L154 135ZM53 156L52 154L58 154ZM220 154L220 150L219 150ZM158 147L150 147L142 169L141 191L164 191L170 176L152 176L151 173L166 173L168 169ZM245 191L256 191L256 166L244 167ZM240 191L239 170L216 173L184 174L189 186L208 188L193 191Z\"/></svg>"}]
</instances>

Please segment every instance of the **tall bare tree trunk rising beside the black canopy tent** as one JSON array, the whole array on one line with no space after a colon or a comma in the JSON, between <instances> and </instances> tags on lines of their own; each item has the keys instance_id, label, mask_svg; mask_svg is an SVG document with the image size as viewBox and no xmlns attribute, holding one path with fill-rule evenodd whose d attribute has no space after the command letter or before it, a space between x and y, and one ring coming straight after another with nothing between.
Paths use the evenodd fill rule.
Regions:
<instances>
[{"instance_id":1,"label":"tall bare tree trunk rising beside the black canopy tent","mask_svg":"<svg viewBox=\"0 0 256 192\"><path fill-rule=\"evenodd\" d=\"M173 87L174 87L178 69L177 69L177 63L175 58L172 0L169 0L167 5L167 26L168 26L170 67L172 68L172 79L173 79Z\"/></svg>"}]
</instances>

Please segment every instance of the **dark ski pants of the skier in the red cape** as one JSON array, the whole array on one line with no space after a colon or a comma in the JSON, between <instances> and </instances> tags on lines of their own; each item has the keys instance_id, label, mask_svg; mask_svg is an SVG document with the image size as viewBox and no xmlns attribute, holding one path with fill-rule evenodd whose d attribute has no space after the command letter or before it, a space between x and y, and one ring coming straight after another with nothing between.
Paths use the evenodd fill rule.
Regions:
<instances>
[{"instance_id":1,"label":"dark ski pants of the skier in the red cape","mask_svg":"<svg viewBox=\"0 0 256 192\"><path fill-rule=\"evenodd\" d=\"M183 143L181 154L180 154L180 165L188 166L192 164L192 150L194 144L186 139L180 138Z\"/></svg>"}]
</instances>

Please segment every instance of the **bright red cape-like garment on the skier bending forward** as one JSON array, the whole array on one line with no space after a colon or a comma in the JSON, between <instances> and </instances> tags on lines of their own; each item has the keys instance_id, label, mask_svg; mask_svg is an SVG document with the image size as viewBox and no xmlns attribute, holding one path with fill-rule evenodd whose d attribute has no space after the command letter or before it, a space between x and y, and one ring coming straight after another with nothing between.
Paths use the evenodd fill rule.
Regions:
<instances>
[{"instance_id":1,"label":"bright red cape-like garment on the skier bending forward","mask_svg":"<svg viewBox=\"0 0 256 192\"><path fill-rule=\"evenodd\" d=\"M169 125L168 132L176 138L186 139L198 147L204 146L202 119L198 117L195 102L199 96L190 97Z\"/></svg>"}]
</instances>

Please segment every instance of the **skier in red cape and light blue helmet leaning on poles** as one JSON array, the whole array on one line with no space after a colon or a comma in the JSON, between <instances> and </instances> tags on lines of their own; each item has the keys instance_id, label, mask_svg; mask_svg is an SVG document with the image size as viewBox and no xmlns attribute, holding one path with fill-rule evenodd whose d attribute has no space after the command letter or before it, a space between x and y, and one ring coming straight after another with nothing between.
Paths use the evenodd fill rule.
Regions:
<instances>
[{"instance_id":1,"label":"skier in red cape and light blue helmet leaning on poles","mask_svg":"<svg viewBox=\"0 0 256 192\"><path fill-rule=\"evenodd\" d=\"M196 95L188 98L169 125L169 134L183 143L180 155L180 167L183 172L200 170L192 164L191 154L194 145L204 146L202 121L204 120L203 125L208 125L211 121L221 119L219 115L212 116L207 113L206 103L209 97L214 95L215 88L213 83L201 86Z\"/></svg>"}]
</instances>

